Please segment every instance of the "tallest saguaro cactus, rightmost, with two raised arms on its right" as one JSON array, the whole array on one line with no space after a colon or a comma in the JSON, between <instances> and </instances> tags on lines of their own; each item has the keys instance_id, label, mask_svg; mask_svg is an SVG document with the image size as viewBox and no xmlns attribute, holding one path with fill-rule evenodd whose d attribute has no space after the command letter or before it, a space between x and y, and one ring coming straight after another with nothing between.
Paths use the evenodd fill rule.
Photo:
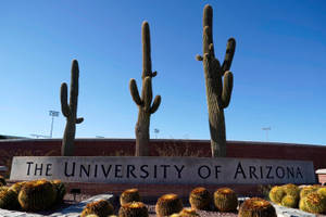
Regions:
<instances>
[{"instance_id":1,"label":"tallest saguaro cactus, rightmost, with two raised arms on its right","mask_svg":"<svg viewBox=\"0 0 326 217\"><path fill-rule=\"evenodd\" d=\"M229 68L235 54L236 40L228 39L225 59L221 66L214 54L212 18L213 9L206 4L203 10L203 56L197 55L197 60L203 62L212 156L217 157L226 156L224 108L228 106L233 91L234 77ZM222 77L224 77L223 82Z\"/></svg>"}]
</instances>

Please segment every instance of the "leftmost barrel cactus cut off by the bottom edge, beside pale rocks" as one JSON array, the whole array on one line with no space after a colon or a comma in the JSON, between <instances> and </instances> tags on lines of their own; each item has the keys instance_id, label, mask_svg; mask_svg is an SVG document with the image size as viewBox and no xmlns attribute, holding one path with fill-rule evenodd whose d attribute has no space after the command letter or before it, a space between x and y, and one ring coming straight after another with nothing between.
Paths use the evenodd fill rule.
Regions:
<instances>
[{"instance_id":1,"label":"leftmost barrel cactus cut off by the bottom edge, beside pale rocks","mask_svg":"<svg viewBox=\"0 0 326 217\"><path fill-rule=\"evenodd\" d=\"M106 217L112 215L114 210L113 205L105 200L96 201L86 205L83 209L80 217L86 217L87 215L95 214L99 217Z\"/></svg>"}]
</instances>

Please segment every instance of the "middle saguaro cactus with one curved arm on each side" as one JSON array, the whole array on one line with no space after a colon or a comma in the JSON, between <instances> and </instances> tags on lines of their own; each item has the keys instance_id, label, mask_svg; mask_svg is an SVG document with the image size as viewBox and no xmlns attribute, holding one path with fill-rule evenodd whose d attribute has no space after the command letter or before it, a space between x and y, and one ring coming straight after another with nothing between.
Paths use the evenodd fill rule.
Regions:
<instances>
[{"instance_id":1,"label":"middle saguaro cactus with one curved arm on each side","mask_svg":"<svg viewBox=\"0 0 326 217\"><path fill-rule=\"evenodd\" d=\"M149 155L149 127L150 116L160 106L161 95L156 95L152 103L152 77L156 76L156 72L152 72L151 63L151 41L150 29L147 22L141 26L141 39L142 39L142 89L141 98L138 92L137 84L135 79L130 79L129 89L135 103L138 105L138 120L135 127L136 133L136 156Z\"/></svg>"}]
</instances>

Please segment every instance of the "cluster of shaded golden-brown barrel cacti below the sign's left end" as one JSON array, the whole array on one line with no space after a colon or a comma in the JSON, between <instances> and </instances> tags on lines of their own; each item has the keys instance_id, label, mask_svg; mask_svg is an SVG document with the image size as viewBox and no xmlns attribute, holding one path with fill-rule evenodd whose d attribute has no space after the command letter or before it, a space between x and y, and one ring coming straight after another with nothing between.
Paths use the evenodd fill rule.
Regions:
<instances>
[{"instance_id":1,"label":"cluster of shaded golden-brown barrel cacti below the sign's left end","mask_svg":"<svg viewBox=\"0 0 326 217\"><path fill-rule=\"evenodd\" d=\"M65 187L60 181L35 180L0 187L0 208L38 212L62 203Z\"/></svg>"}]
</instances>

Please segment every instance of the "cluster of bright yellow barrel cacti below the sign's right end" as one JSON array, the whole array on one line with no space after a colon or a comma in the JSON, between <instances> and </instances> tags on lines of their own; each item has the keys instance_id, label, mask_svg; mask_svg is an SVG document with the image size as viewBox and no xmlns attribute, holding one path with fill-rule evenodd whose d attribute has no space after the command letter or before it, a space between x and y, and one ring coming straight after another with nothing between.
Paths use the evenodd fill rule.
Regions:
<instances>
[{"instance_id":1,"label":"cluster of bright yellow barrel cacti below the sign's right end","mask_svg":"<svg viewBox=\"0 0 326 217\"><path fill-rule=\"evenodd\" d=\"M269 191L269 199L278 205L326 214L326 188L318 184L302 188L292 183L275 186Z\"/></svg>"}]
</instances>

